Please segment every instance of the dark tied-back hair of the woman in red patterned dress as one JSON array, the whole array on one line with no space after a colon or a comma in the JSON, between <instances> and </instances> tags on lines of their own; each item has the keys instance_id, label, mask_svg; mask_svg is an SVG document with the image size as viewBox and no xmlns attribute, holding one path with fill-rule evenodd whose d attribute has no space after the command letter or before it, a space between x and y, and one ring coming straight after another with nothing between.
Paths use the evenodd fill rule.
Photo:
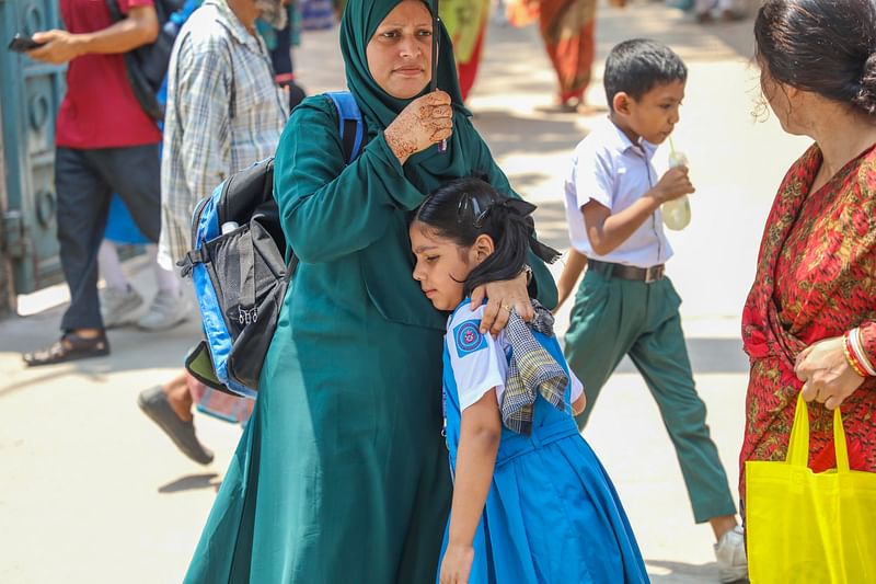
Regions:
<instances>
[{"instance_id":1,"label":"dark tied-back hair of the woman in red patterned dress","mask_svg":"<svg viewBox=\"0 0 876 584\"><path fill-rule=\"evenodd\" d=\"M873 0L768 0L754 39L774 80L876 115Z\"/></svg>"}]
</instances>

